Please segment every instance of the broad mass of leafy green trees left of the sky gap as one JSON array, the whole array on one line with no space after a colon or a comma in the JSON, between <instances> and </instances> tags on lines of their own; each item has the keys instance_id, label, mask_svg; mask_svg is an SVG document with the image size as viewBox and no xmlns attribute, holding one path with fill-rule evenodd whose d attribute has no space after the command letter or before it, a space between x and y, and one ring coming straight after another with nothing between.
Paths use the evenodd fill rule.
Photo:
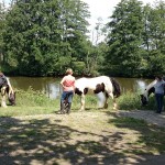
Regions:
<instances>
[{"instance_id":1,"label":"broad mass of leafy green trees left of the sky gap","mask_svg":"<svg viewBox=\"0 0 165 165\"><path fill-rule=\"evenodd\" d=\"M16 0L7 15L6 62L21 75L62 73L84 50L87 16L79 0Z\"/></svg>"}]
</instances>

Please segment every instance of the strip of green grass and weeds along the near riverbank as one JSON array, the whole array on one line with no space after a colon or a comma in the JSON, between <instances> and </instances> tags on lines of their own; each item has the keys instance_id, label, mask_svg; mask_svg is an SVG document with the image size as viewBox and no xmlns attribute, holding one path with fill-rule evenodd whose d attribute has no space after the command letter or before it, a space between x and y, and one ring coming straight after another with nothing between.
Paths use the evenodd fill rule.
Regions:
<instances>
[{"instance_id":1,"label":"strip of green grass and weeds along the near riverbank","mask_svg":"<svg viewBox=\"0 0 165 165\"><path fill-rule=\"evenodd\" d=\"M155 100L151 96L150 102L146 107L140 103L140 95L127 92L117 99L119 110L155 110ZM79 111L80 97L75 95L73 99L72 112ZM28 91L16 91L16 106L8 108L0 108L1 117L16 117L16 116L34 116L34 114L53 114L59 110L59 98L50 99L41 91L34 91L29 88ZM113 111L112 99L109 98L108 109L98 109L98 99L96 96L86 96L86 111Z\"/></svg>"}]
</instances>

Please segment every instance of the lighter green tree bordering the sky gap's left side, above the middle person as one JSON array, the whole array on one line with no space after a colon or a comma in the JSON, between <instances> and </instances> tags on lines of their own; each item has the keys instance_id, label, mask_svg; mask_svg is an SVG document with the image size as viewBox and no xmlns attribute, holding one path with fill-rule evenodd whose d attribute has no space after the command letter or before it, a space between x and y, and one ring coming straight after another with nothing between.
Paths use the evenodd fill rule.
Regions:
<instances>
[{"instance_id":1,"label":"lighter green tree bordering the sky gap's left side, above the middle person","mask_svg":"<svg viewBox=\"0 0 165 165\"><path fill-rule=\"evenodd\" d=\"M66 67L65 62L67 62L67 65L72 66L75 73L78 74L80 70L85 69L86 65L85 57L87 51L85 45L87 42L87 26L89 25L89 23L86 21L86 18L90 16L88 12L88 6L79 0L64 0L61 1L61 23L63 26L61 46L63 48L59 57L59 64L61 67L64 68Z\"/></svg>"}]
</instances>

